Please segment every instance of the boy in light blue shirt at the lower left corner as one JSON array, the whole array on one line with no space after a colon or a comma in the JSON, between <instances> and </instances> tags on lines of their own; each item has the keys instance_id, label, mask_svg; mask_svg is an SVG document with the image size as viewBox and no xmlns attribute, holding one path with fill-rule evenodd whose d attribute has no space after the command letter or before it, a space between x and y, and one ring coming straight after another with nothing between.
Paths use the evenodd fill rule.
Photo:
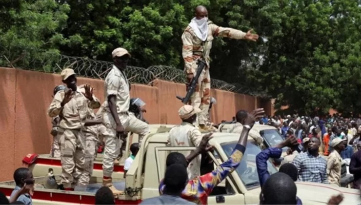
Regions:
<instances>
[{"instance_id":1,"label":"boy in light blue shirt at the lower left corner","mask_svg":"<svg viewBox=\"0 0 361 205\"><path fill-rule=\"evenodd\" d=\"M33 202L31 199L31 193L34 190L33 173L31 173L28 168L18 168L14 172L14 181L16 186L14 191L11 193L10 198L18 197L16 201L22 202L25 205L32 205ZM30 193L23 193L24 190L29 190Z\"/></svg>"}]
</instances>

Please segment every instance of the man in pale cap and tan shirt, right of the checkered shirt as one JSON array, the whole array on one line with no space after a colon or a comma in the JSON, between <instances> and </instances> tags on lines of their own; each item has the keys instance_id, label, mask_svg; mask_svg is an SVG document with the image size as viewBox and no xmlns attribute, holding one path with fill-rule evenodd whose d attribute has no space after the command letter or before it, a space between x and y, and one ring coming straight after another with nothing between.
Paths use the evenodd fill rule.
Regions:
<instances>
[{"instance_id":1,"label":"man in pale cap and tan shirt, right of the checkered shirt","mask_svg":"<svg viewBox=\"0 0 361 205\"><path fill-rule=\"evenodd\" d=\"M341 151L345 149L347 139L335 138L331 142L333 151L327 159L327 177L330 184L341 185Z\"/></svg>"}]
</instances>

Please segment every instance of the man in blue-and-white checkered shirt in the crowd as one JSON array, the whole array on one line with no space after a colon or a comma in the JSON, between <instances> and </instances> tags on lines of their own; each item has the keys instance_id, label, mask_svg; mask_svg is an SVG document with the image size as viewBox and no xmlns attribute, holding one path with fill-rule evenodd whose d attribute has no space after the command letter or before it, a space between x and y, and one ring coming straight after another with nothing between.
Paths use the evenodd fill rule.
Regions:
<instances>
[{"instance_id":1,"label":"man in blue-and-white checkered shirt in the crowd","mask_svg":"<svg viewBox=\"0 0 361 205\"><path fill-rule=\"evenodd\" d=\"M327 161L319 155L321 142L318 138L311 138L307 145L307 152L299 154L292 162L299 171L299 181L329 184L327 179Z\"/></svg>"}]
</instances>

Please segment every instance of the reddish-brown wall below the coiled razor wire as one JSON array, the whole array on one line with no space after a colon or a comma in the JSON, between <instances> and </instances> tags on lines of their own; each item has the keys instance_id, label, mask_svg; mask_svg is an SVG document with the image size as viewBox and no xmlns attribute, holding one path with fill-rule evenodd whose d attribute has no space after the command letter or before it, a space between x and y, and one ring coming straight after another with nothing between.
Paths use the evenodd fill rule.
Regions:
<instances>
[{"instance_id":1,"label":"reddish-brown wall below the coiled razor wire","mask_svg":"<svg viewBox=\"0 0 361 205\"><path fill-rule=\"evenodd\" d=\"M78 84L89 83L102 102L103 81L79 78ZM52 137L51 120L47 108L53 89L61 83L60 76L12 68L0 68L0 181L12 180L13 171L21 166L22 158L29 153L49 153ZM146 102L145 118L149 123L180 123L178 109L182 103L176 95L185 95L185 85L156 80L153 86L133 84L132 97ZM264 107L267 114L272 108L269 101L252 96L212 90L217 104L212 120L231 120L240 109L251 111Z\"/></svg>"}]
</instances>

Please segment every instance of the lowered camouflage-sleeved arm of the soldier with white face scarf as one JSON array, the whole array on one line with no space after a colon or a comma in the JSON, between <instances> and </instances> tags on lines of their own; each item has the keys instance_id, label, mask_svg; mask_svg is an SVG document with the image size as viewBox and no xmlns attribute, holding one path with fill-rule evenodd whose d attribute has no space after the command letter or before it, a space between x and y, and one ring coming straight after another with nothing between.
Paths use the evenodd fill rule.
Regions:
<instances>
[{"instance_id":1,"label":"lowered camouflage-sleeved arm of the soldier with white face scarf","mask_svg":"<svg viewBox=\"0 0 361 205\"><path fill-rule=\"evenodd\" d=\"M193 64L193 41L192 34L189 31L185 30L182 34L182 56L184 60L184 71L188 75L193 74L194 70L192 70Z\"/></svg>"}]
</instances>

